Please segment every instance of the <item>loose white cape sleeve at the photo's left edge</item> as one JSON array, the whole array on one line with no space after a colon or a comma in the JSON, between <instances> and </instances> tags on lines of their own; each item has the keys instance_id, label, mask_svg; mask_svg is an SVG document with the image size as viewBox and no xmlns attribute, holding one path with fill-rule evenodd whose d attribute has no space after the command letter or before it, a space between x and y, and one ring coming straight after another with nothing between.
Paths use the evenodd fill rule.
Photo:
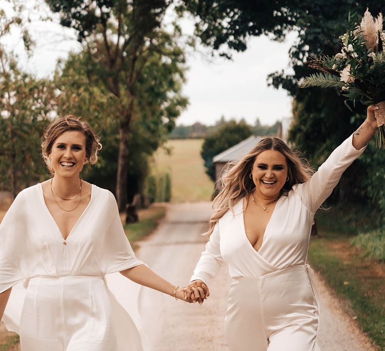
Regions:
<instances>
[{"instance_id":1,"label":"loose white cape sleeve at the photo's left edge","mask_svg":"<svg viewBox=\"0 0 385 351\"><path fill-rule=\"evenodd\" d=\"M26 200L21 192L0 224L0 292L25 279L27 241Z\"/></svg>"}]
</instances>

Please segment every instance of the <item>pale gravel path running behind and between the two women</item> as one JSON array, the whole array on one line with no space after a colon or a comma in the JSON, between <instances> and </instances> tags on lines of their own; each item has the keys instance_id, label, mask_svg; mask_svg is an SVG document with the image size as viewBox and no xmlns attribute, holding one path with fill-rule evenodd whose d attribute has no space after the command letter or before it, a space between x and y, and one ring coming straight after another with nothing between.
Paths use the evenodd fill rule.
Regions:
<instances>
[{"instance_id":1,"label":"pale gravel path running behind and between the two women","mask_svg":"<svg viewBox=\"0 0 385 351\"><path fill-rule=\"evenodd\" d=\"M200 234L206 229L210 212L211 203L169 205L166 219L156 233L140 244L139 259L169 281L186 284L204 250L206 239ZM316 278L321 305L318 339L322 351L376 350L353 317L342 312L339 300L318 274ZM154 351L228 350L223 321L229 282L224 267L212 282L211 296L202 306L166 296L159 330L155 333L157 338L153 340Z\"/></svg>"}]
</instances>

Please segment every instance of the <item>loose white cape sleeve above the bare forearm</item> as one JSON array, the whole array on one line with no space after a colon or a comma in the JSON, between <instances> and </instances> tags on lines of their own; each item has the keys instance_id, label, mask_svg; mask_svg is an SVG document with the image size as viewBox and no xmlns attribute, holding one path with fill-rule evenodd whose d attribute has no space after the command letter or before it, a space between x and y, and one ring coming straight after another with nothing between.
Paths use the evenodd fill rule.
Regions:
<instances>
[{"instance_id":1,"label":"loose white cape sleeve above the bare forearm","mask_svg":"<svg viewBox=\"0 0 385 351\"><path fill-rule=\"evenodd\" d=\"M101 256L105 264L105 274L144 264L139 261L128 241L120 221L115 197L108 192L107 220L110 225L105 232Z\"/></svg>"}]
</instances>

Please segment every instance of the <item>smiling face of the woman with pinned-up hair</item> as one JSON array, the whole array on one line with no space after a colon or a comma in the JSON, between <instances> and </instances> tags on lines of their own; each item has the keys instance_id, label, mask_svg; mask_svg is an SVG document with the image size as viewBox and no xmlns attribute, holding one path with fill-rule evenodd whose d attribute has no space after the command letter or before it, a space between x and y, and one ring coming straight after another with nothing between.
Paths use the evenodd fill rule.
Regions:
<instances>
[{"instance_id":1,"label":"smiling face of the woman with pinned-up hair","mask_svg":"<svg viewBox=\"0 0 385 351\"><path fill-rule=\"evenodd\" d=\"M59 135L49 154L56 177L79 178L86 161L86 137L78 130Z\"/></svg>"}]
</instances>

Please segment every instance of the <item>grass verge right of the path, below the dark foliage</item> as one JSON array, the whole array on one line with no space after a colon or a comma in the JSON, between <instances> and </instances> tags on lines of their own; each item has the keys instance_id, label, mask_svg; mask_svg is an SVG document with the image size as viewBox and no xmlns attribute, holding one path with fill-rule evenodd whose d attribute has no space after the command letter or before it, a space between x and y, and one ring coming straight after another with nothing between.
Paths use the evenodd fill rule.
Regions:
<instances>
[{"instance_id":1,"label":"grass verge right of the path, below the dark foliage","mask_svg":"<svg viewBox=\"0 0 385 351\"><path fill-rule=\"evenodd\" d=\"M347 302L343 306L361 329L385 351L385 265L352 245L361 228L369 231L373 225L364 213L351 216L338 208L321 211L319 237L310 240L309 261Z\"/></svg>"}]
</instances>

